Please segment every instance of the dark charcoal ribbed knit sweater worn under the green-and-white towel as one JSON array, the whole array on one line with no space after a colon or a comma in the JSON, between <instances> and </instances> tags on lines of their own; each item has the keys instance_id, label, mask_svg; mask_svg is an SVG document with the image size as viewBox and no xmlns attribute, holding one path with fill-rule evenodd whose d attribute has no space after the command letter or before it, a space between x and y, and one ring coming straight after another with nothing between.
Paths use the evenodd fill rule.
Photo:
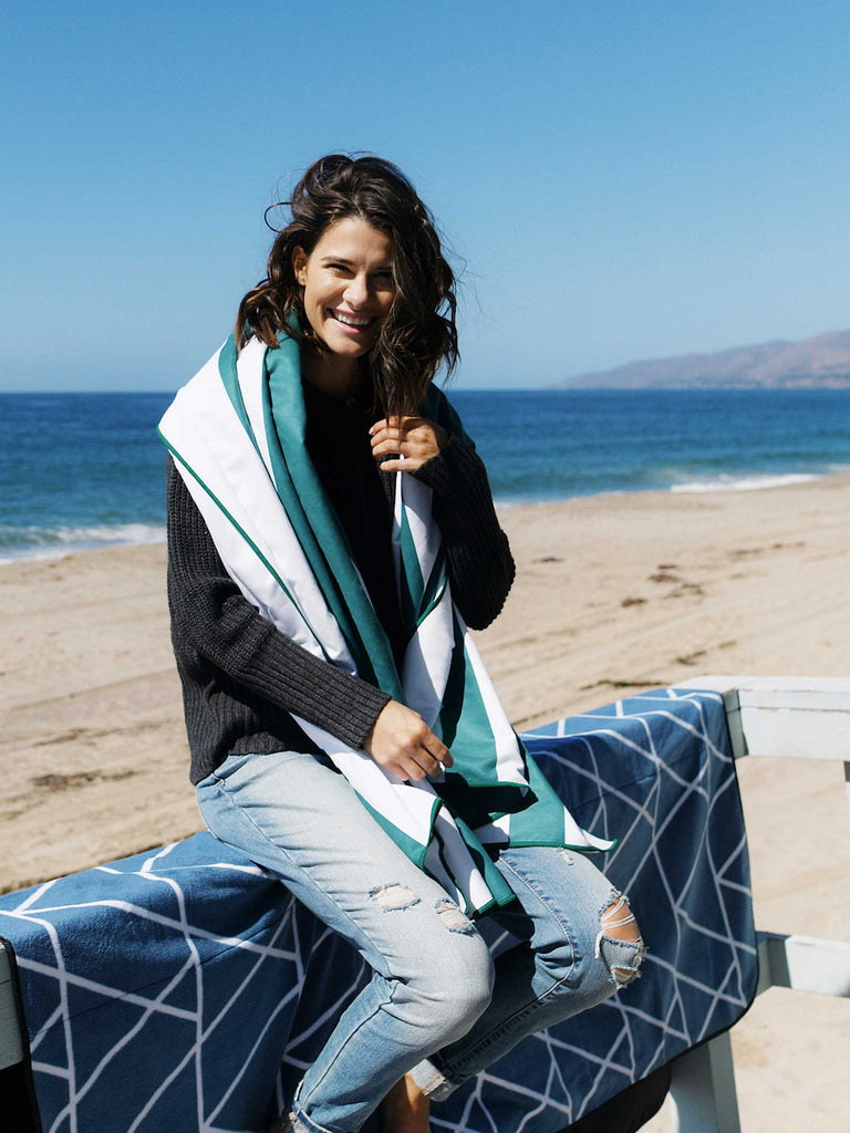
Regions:
<instances>
[{"instance_id":1,"label":"dark charcoal ribbed knit sweater worn under the green-and-white towel","mask_svg":"<svg viewBox=\"0 0 850 1133\"><path fill-rule=\"evenodd\" d=\"M317 444L314 452L308 437L308 448L347 526L343 513L350 502L334 499L339 487L324 467L322 446ZM470 448L452 438L413 475L434 493L433 514L447 548L454 602L473 629L483 629L502 608L515 572L484 465ZM382 506L386 509L390 479L377 478L379 484L383 482ZM352 550L357 557L357 548ZM168 589L193 783L232 753L315 751L290 713L354 748L363 747L390 697L314 657L246 600L224 570L170 459Z\"/></svg>"}]
</instances>

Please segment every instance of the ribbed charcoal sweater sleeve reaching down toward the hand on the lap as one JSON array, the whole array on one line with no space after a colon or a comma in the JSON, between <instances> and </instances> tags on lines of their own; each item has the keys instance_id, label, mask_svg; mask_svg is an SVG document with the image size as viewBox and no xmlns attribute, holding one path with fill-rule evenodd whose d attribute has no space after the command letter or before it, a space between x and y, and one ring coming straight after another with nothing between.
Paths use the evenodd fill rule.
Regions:
<instances>
[{"instance_id":1,"label":"ribbed charcoal sweater sleeve reaching down toward the hand on the lap","mask_svg":"<svg viewBox=\"0 0 850 1133\"><path fill-rule=\"evenodd\" d=\"M254 705L260 701L295 713L345 743L362 748L390 697L314 657L247 602L224 570L171 460L168 516L169 603L184 690L187 675L197 683L203 675L198 667L209 667L207 680L219 680L229 690L248 690ZM189 668L195 672L187 673Z\"/></svg>"}]
</instances>

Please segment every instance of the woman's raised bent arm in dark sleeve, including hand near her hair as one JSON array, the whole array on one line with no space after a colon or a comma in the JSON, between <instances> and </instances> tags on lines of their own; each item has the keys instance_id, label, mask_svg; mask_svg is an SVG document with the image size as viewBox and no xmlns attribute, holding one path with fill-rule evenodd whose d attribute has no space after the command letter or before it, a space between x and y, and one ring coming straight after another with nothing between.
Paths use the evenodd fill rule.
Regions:
<instances>
[{"instance_id":1,"label":"woman's raised bent arm in dark sleeve, including hand near her hair","mask_svg":"<svg viewBox=\"0 0 850 1133\"><path fill-rule=\"evenodd\" d=\"M376 460L389 458L382 471L410 472L432 489L452 597L471 629L490 625L504 605L516 568L481 457L424 417L379 421L372 428L372 452ZM398 454L405 459L392 459Z\"/></svg>"}]
</instances>

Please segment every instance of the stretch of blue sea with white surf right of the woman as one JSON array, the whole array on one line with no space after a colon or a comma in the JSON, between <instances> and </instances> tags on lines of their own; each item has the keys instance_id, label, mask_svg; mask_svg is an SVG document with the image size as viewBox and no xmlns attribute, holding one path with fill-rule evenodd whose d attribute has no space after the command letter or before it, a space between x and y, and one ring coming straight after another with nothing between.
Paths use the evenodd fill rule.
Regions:
<instances>
[{"instance_id":1,"label":"stretch of blue sea with white surf right of the woman","mask_svg":"<svg viewBox=\"0 0 850 1133\"><path fill-rule=\"evenodd\" d=\"M503 502L749 491L850 471L850 390L546 390L452 400Z\"/></svg>"}]
</instances>

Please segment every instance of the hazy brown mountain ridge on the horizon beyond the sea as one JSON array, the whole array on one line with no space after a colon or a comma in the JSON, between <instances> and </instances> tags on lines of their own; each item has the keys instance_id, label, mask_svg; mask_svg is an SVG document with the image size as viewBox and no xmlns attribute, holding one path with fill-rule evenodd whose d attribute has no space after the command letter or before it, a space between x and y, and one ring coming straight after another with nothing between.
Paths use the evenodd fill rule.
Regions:
<instances>
[{"instance_id":1,"label":"hazy brown mountain ridge on the horizon beyond the sea","mask_svg":"<svg viewBox=\"0 0 850 1133\"><path fill-rule=\"evenodd\" d=\"M598 374L579 374L558 389L850 389L850 331L801 342L765 342L717 353L630 361Z\"/></svg>"}]
</instances>

